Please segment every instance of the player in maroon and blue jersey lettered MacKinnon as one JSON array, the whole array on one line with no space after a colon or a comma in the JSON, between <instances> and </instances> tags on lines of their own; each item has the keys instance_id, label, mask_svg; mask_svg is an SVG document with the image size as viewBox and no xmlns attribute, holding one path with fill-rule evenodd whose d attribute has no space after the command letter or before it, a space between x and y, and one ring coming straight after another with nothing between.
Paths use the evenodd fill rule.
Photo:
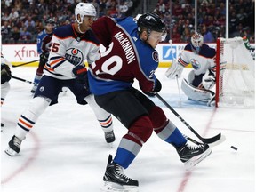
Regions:
<instances>
[{"instance_id":1,"label":"player in maroon and blue jersey lettered MacKinnon","mask_svg":"<svg viewBox=\"0 0 256 192\"><path fill-rule=\"evenodd\" d=\"M126 188L139 186L138 180L128 178L123 168L132 164L153 131L177 149L180 160L188 168L209 156L212 149L207 144L191 147L164 111L142 93L154 95L162 87L155 76L158 67L155 48L166 36L164 21L155 13L143 14L138 22L132 17L103 17L93 23L92 30L107 50L100 60L90 65L90 90L100 107L116 116L128 129L114 159L111 155L108 157L103 189L126 191ZM142 92L132 87L135 79Z\"/></svg>"}]
</instances>

